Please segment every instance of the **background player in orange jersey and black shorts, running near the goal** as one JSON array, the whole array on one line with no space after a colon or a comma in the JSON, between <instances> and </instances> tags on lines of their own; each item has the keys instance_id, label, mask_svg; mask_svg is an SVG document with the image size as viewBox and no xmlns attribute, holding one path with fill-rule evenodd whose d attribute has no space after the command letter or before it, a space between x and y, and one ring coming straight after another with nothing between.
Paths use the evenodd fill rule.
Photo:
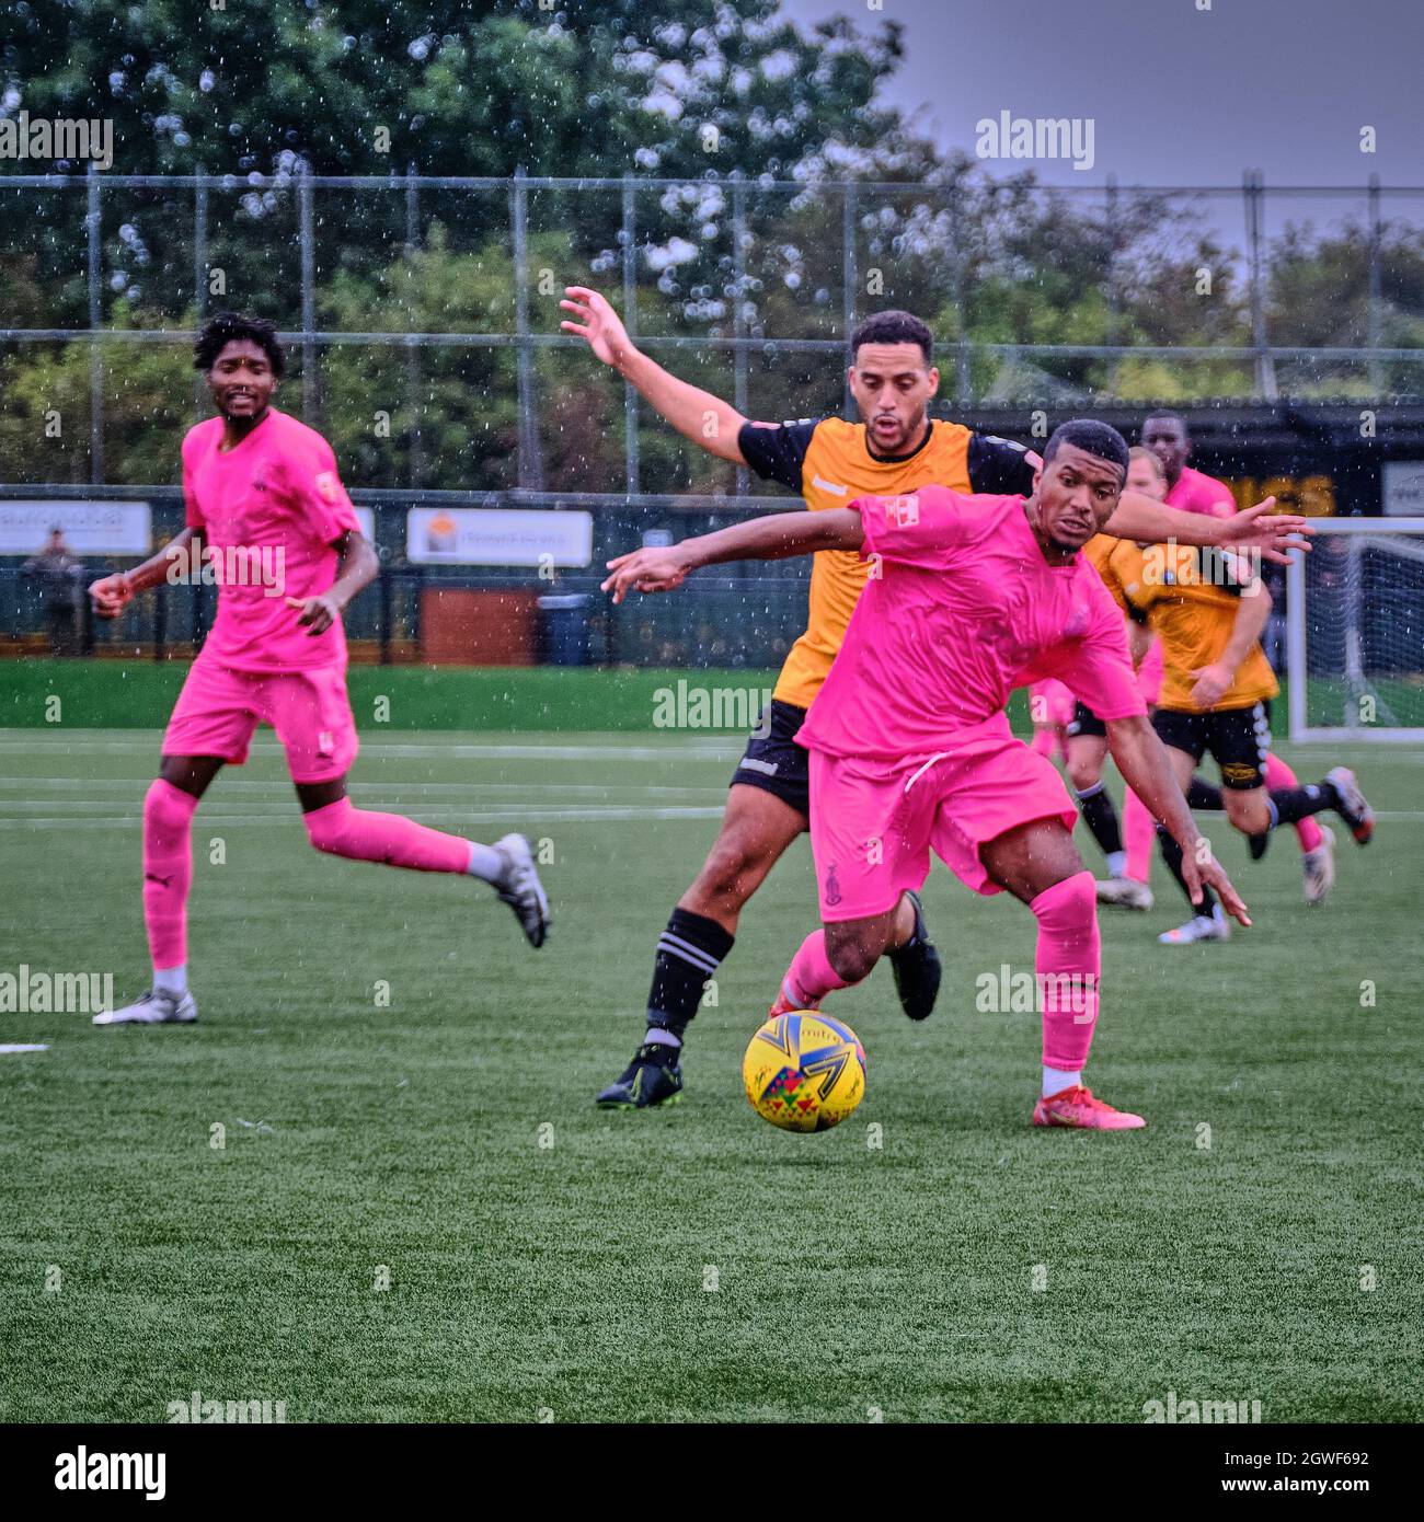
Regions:
<instances>
[{"instance_id":1,"label":"background player in orange jersey and black shorts, running near the goal","mask_svg":"<svg viewBox=\"0 0 1424 1522\"><path fill-rule=\"evenodd\" d=\"M1161 642L1164 673L1153 728L1182 791L1209 752L1221 769L1226 817L1244 836L1264 842L1276 825L1334 810L1365 845L1374 813L1348 767L1334 767L1322 782L1305 787L1267 787L1270 700L1279 688L1260 642L1270 594L1249 557L1116 540L1098 560L1098 572L1129 616L1144 619ZM1185 892L1180 846L1161 829L1157 840ZM1194 907L1186 924L1157 938L1164 945L1229 938L1226 915L1209 893Z\"/></svg>"}]
</instances>

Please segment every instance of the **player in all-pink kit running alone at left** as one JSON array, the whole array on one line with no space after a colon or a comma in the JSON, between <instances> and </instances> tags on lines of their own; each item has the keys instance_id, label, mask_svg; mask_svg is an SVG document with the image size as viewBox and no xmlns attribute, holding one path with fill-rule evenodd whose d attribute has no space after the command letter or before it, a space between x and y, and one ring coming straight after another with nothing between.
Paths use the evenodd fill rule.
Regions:
<instances>
[{"instance_id":1,"label":"player in all-pink kit running alone at left","mask_svg":"<svg viewBox=\"0 0 1424 1522\"><path fill-rule=\"evenodd\" d=\"M164 580L212 566L218 616L193 661L163 737L158 776L143 801L143 918L154 983L94 1024L187 1024L190 826L224 766L241 766L259 723L276 729L318 851L419 872L481 878L509 904L528 941L548 930L548 901L528 842L486 846L401 814L355 808L346 775L356 726L346 696L341 613L376 575L376 552L337 475L330 444L271 405L283 352L271 323L224 312L198 335L193 367L218 416L183 440L187 527L157 556L90 587L114 618Z\"/></svg>"}]
</instances>

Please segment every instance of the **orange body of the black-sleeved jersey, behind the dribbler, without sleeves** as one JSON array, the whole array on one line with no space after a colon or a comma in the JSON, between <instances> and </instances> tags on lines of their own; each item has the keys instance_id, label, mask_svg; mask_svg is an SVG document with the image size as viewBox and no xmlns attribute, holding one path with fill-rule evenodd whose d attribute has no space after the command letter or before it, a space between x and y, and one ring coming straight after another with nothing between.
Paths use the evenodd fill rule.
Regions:
<instances>
[{"instance_id":1,"label":"orange body of the black-sleeved jersey, behind the dribbler, without sleeves","mask_svg":"<svg viewBox=\"0 0 1424 1522\"><path fill-rule=\"evenodd\" d=\"M947 486L969 492L970 429L959 423L931 425L924 447L905 460L876 460L865 444L865 425L830 417L816 426L801 467L801 496L815 513L827 507L850 507L857 496L894 496L921 486ZM812 699L830 671L845 638L845 626L868 562L850 549L822 549L812 563L810 616L806 633L792 645L774 697L797 708Z\"/></svg>"}]
</instances>

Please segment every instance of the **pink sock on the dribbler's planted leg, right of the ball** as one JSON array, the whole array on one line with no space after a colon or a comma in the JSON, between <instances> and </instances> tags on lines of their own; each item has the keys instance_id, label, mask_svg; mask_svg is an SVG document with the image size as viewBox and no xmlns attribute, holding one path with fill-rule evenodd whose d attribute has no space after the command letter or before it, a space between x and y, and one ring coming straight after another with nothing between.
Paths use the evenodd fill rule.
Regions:
<instances>
[{"instance_id":1,"label":"pink sock on the dribbler's planted leg, right of the ball","mask_svg":"<svg viewBox=\"0 0 1424 1522\"><path fill-rule=\"evenodd\" d=\"M1083 1070L1098 1020L1098 898L1092 872L1077 872L1028 906L1039 921L1039 1000L1043 1006L1043 1065Z\"/></svg>"}]
</instances>

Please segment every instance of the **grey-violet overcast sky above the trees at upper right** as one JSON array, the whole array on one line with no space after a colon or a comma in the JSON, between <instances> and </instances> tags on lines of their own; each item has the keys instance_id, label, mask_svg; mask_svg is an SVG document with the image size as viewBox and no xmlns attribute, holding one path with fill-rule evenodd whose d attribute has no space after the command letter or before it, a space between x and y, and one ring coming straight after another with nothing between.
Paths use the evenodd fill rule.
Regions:
<instances>
[{"instance_id":1,"label":"grey-violet overcast sky above the trees at upper right","mask_svg":"<svg viewBox=\"0 0 1424 1522\"><path fill-rule=\"evenodd\" d=\"M975 123L1092 117L1097 163L1049 183L1424 186L1424 0L783 0L797 21L905 26L886 94L941 145ZM1378 151L1360 152L1374 126ZM993 167L993 166L991 166ZM1023 164L999 164L1008 172ZM1410 207L1418 215L1424 199Z\"/></svg>"}]
</instances>

